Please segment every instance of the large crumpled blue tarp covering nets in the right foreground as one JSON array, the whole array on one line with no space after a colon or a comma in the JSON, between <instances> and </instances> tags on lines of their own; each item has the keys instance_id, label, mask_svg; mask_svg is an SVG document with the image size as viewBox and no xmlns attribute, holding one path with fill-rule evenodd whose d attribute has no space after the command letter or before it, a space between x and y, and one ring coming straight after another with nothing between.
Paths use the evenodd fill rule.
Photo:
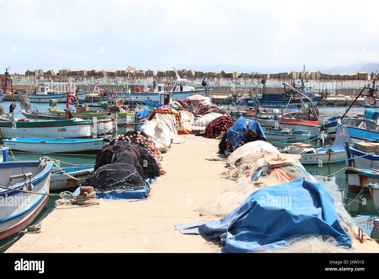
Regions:
<instances>
[{"instance_id":1,"label":"large crumpled blue tarp covering nets in the right foreground","mask_svg":"<svg viewBox=\"0 0 379 279\"><path fill-rule=\"evenodd\" d=\"M258 252L286 247L287 240L309 235L332 236L351 248L348 233L334 209L334 199L319 183L299 178L253 192L219 221L176 225L183 234L220 238L223 252Z\"/></svg>"}]
</instances>

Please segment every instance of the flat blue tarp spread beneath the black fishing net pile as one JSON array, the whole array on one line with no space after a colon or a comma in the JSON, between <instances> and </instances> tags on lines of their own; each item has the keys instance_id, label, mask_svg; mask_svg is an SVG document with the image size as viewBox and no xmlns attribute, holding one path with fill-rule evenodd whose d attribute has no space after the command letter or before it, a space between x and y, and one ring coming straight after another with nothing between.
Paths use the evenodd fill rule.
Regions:
<instances>
[{"instance_id":1,"label":"flat blue tarp spread beneath the black fishing net pile","mask_svg":"<svg viewBox=\"0 0 379 279\"><path fill-rule=\"evenodd\" d=\"M153 183L155 180L152 178L145 179L147 184ZM78 187L74 194L80 194L80 187ZM97 199L104 199L104 200L117 200L120 202L135 202L136 200L146 200L147 195L149 194L149 191L147 189L139 189L135 191L123 191L121 193L117 191L109 191L109 192L103 192L103 191L96 191L96 198Z\"/></svg>"}]
</instances>

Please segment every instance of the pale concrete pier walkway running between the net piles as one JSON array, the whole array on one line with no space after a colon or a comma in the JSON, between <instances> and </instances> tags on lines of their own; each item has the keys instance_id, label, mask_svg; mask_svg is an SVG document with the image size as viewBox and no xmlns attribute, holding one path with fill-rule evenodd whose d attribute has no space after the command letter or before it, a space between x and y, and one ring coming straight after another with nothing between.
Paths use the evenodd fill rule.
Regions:
<instances>
[{"instance_id":1,"label":"pale concrete pier walkway running between the net piles","mask_svg":"<svg viewBox=\"0 0 379 279\"><path fill-rule=\"evenodd\" d=\"M215 252L221 246L200 235L182 235L174 225L219 220L199 216L233 181L220 178L224 162L218 141L185 135L163 154L166 175L151 185L147 200L103 202L84 208L56 209L43 221L41 233L26 234L6 252ZM379 252L374 241L355 252Z\"/></svg>"}]
</instances>

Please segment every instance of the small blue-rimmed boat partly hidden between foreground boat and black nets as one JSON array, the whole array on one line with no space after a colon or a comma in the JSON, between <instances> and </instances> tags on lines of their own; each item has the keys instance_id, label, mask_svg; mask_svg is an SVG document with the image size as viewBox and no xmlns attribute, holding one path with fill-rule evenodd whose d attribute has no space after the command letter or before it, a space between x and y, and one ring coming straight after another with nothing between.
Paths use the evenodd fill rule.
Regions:
<instances>
[{"instance_id":1,"label":"small blue-rimmed boat partly hidden between foreground boat and black nets","mask_svg":"<svg viewBox=\"0 0 379 279\"><path fill-rule=\"evenodd\" d=\"M89 177L89 172L94 166L53 168L50 176L50 192L73 191L80 186L82 179ZM63 171L62 171L63 170Z\"/></svg>"}]
</instances>

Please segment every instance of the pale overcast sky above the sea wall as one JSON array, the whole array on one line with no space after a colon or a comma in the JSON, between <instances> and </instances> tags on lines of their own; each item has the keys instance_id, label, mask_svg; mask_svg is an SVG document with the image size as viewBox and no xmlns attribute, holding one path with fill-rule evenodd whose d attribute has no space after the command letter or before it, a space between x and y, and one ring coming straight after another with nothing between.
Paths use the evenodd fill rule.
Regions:
<instances>
[{"instance_id":1,"label":"pale overcast sky above the sea wall","mask_svg":"<svg viewBox=\"0 0 379 279\"><path fill-rule=\"evenodd\" d=\"M376 4L375 4L376 3ZM379 62L374 1L0 0L0 72L317 71Z\"/></svg>"}]
</instances>

